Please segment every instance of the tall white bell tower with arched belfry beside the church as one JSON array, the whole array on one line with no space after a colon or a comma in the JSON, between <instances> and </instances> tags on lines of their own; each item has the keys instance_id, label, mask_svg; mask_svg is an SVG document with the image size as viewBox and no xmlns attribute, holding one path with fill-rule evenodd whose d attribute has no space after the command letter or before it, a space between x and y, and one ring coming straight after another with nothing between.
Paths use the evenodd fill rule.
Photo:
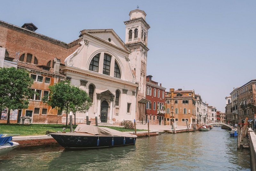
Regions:
<instances>
[{"instance_id":1,"label":"tall white bell tower with arched belfry beside the church","mask_svg":"<svg viewBox=\"0 0 256 171\"><path fill-rule=\"evenodd\" d=\"M129 13L130 19L125 24L125 44L131 50L129 64L139 85L136 92L136 120L137 123L146 121L146 71L148 55L148 29L146 13L136 9ZM139 122L140 121L140 122Z\"/></svg>"}]
</instances>

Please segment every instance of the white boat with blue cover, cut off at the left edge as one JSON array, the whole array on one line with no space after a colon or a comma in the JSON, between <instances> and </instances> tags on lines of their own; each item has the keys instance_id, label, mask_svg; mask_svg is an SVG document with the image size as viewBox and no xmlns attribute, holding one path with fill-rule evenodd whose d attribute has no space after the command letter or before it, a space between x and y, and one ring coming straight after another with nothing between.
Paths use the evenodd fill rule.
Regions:
<instances>
[{"instance_id":1,"label":"white boat with blue cover, cut off at the left edge","mask_svg":"<svg viewBox=\"0 0 256 171\"><path fill-rule=\"evenodd\" d=\"M8 136L11 135L11 136ZM17 134L15 134L17 135ZM7 152L18 147L19 143L12 141L13 134L0 134L0 155L6 154Z\"/></svg>"}]
</instances>

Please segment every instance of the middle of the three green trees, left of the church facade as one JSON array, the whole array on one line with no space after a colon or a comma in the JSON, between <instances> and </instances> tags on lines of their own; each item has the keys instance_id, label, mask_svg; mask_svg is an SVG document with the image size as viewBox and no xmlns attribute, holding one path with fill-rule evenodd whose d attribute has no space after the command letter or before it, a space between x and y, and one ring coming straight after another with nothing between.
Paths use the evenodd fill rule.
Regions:
<instances>
[{"instance_id":1,"label":"middle of the three green trees, left of the church facade","mask_svg":"<svg viewBox=\"0 0 256 171\"><path fill-rule=\"evenodd\" d=\"M44 96L42 101L52 108L66 109L66 126L68 126L68 109L72 101L74 101L74 93L72 93L70 81L60 81L49 86L49 99Z\"/></svg>"}]
</instances>

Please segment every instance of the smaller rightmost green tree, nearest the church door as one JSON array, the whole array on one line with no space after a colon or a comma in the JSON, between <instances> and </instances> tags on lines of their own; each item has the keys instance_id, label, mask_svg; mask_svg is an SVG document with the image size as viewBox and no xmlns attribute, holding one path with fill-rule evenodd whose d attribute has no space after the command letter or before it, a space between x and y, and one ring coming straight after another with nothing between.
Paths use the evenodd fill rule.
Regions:
<instances>
[{"instance_id":1,"label":"smaller rightmost green tree, nearest the church door","mask_svg":"<svg viewBox=\"0 0 256 171\"><path fill-rule=\"evenodd\" d=\"M71 86L72 93L74 93L74 101L70 103L70 111L75 115L76 125L76 112L87 112L92 106L92 100L88 96L88 93L79 87Z\"/></svg>"}]
</instances>

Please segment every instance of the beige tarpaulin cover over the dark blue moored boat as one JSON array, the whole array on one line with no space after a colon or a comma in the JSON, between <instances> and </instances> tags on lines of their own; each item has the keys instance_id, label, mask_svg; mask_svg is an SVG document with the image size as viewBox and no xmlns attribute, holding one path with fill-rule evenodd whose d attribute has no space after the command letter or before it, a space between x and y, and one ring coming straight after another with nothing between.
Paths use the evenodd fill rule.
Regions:
<instances>
[{"instance_id":1,"label":"beige tarpaulin cover over the dark blue moored boat","mask_svg":"<svg viewBox=\"0 0 256 171\"><path fill-rule=\"evenodd\" d=\"M120 137L133 137L136 138L137 135L132 135L128 133L124 133L118 130L113 130L105 127L97 127L92 125L77 125L74 132L83 132L89 133L92 135L107 135L107 136L120 136Z\"/></svg>"}]
</instances>

